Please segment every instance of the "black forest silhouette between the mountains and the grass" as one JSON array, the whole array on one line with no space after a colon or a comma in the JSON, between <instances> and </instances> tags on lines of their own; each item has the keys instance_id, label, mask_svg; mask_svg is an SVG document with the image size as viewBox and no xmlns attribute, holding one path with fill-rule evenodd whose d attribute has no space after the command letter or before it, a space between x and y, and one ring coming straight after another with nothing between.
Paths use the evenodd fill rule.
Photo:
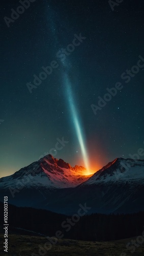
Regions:
<instances>
[{"instance_id":1,"label":"black forest silhouette between the mountains and the grass","mask_svg":"<svg viewBox=\"0 0 144 256\"><path fill-rule=\"evenodd\" d=\"M3 226L4 203L0 202L1 225ZM135 214L92 214L80 217L77 222L71 216L30 207L8 205L9 233L30 233L22 228L53 237L60 230L65 239L84 241L112 241L141 236L144 229L144 212ZM71 220L69 230L67 220ZM17 231L16 231L17 230ZM33 234L34 236L34 234Z\"/></svg>"}]
</instances>

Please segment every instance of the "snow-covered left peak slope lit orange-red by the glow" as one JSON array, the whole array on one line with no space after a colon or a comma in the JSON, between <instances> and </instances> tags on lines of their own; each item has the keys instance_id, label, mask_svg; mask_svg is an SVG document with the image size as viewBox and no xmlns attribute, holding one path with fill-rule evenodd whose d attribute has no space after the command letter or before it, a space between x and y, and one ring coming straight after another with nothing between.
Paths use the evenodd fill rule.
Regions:
<instances>
[{"instance_id":1,"label":"snow-covered left peak slope lit orange-red by the glow","mask_svg":"<svg viewBox=\"0 0 144 256\"><path fill-rule=\"evenodd\" d=\"M66 188L75 187L92 175L84 176L85 168L71 167L64 160L47 155L39 161L20 169L15 174L0 179L0 188Z\"/></svg>"}]
</instances>

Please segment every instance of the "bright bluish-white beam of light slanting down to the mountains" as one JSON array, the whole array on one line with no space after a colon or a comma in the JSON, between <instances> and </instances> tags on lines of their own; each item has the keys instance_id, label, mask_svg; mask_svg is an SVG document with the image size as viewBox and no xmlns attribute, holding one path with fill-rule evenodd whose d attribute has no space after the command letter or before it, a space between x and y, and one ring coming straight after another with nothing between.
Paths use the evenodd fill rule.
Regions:
<instances>
[{"instance_id":1,"label":"bright bluish-white beam of light slanting down to the mountains","mask_svg":"<svg viewBox=\"0 0 144 256\"><path fill-rule=\"evenodd\" d=\"M80 124L79 124L79 121L78 121L78 115L77 115L77 111L76 111L76 108L75 108L75 105L74 105L72 89L71 89L71 82L70 82L70 79L69 79L67 74L65 74L64 80L65 80L65 84L66 84L66 89L67 89L67 94L68 94L68 99L69 99L69 104L70 104L70 110L71 110L71 113L72 113L72 118L74 120L74 126L75 126L77 138L78 138L80 148L81 148L81 154L82 154L83 162L84 162L85 168L87 169L87 172L88 172L89 171L88 154L87 154L87 151L85 150L86 147L84 145L84 141L83 141L83 138L82 138L82 132L81 132Z\"/></svg>"}]
</instances>

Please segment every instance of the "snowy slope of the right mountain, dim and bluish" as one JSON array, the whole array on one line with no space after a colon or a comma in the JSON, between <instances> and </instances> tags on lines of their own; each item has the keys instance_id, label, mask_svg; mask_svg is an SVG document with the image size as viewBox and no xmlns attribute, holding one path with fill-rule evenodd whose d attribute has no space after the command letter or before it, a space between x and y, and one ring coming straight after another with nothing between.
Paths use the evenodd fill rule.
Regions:
<instances>
[{"instance_id":1,"label":"snowy slope of the right mountain, dim and bluish","mask_svg":"<svg viewBox=\"0 0 144 256\"><path fill-rule=\"evenodd\" d=\"M139 182L144 184L144 160L116 158L98 170L81 186L107 182Z\"/></svg>"}]
</instances>

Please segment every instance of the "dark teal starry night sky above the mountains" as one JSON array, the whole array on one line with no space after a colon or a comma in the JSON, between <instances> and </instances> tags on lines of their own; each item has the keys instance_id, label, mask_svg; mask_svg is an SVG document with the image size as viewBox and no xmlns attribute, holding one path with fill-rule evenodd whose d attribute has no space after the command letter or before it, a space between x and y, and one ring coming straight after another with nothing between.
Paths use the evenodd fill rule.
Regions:
<instances>
[{"instance_id":1,"label":"dark teal starry night sky above the mountains","mask_svg":"<svg viewBox=\"0 0 144 256\"><path fill-rule=\"evenodd\" d=\"M96 171L144 148L143 1L32 2L1 1L0 177L47 154Z\"/></svg>"}]
</instances>

